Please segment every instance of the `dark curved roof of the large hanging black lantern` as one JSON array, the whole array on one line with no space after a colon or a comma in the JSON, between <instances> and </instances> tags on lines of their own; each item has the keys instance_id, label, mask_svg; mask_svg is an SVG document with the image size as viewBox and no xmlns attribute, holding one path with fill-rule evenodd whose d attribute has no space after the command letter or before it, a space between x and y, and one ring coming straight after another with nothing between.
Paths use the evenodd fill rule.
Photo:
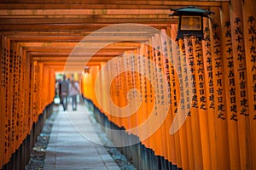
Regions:
<instances>
[{"instance_id":1,"label":"dark curved roof of the large hanging black lantern","mask_svg":"<svg viewBox=\"0 0 256 170\"><path fill-rule=\"evenodd\" d=\"M214 14L209 10L203 8L196 8L194 6L189 6L185 8L171 8L171 11L174 12L172 14L169 14L169 16L178 16L180 14L199 14L207 17L209 14Z\"/></svg>"}]
</instances>

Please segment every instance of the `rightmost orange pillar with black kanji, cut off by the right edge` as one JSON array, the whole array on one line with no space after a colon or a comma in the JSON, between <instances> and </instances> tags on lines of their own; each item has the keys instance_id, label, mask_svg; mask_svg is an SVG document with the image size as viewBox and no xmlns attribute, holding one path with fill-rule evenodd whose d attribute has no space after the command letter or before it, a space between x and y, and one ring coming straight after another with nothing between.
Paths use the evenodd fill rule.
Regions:
<instances>
[{"instance_id":1,"label":"rightmost orange pillar with black kanji, cut off by the right edge","mask_svg":"<svg viewBox=\"0 0 256 170\"><path fill-rule=\"evenodd\" d=\"M251 150L251 158L247 155L247 163L250 162L251 165L247 169L256 169L256 1L247 0L242 1L242 3L247 72L247 109L250 114L250 127L247 126L247 131L250 132L251 138L251 144L247 144L247 150Z\"/></svg>"}]
</instances>

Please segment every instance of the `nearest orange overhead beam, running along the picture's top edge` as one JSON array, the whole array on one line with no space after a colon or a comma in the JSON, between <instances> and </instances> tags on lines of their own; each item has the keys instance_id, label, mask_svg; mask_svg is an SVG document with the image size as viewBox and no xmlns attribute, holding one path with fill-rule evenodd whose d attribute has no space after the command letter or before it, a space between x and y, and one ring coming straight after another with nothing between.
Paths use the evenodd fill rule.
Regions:
<instances>
[{"instance_id":1,"label":"nearest orange overhead beam, running along the picture's top edge","mask_svg":"<svg viewBox=\"0 0 256 170\"><path fill-rule=\"evenodd\" d=\"M222 2L230 2L230 0L197 0L197 1L62 1L48 0L2 0L0 8L2 9L170 9L180 6L205 6L219 7Z\"/></svg>"}]
</instances>

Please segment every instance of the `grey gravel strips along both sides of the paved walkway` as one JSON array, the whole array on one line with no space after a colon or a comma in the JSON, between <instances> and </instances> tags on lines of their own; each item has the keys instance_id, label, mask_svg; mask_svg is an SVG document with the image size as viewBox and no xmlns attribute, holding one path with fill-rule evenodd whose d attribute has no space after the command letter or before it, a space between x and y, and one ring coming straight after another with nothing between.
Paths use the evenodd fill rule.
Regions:
<instances>
[{"instance_id":1,"label":"grey gravel strips along both sides of the paved walkway","mask_svg":"<svg viewBox=\"0 0 256 170\"><path fill-rule=\"evenodd\" d=\"M49 134L51 132L51 127L55 122L55 116L57 112L55 111L49 119L44 123L42 133L38 136L38 141L33 147L32 153L30 155L30 160L26 164L26 170L42 170L44 169L44 157L47 144L49 143ZM102 144L113 145L112 142L108 139L106 133L102 133L100 129L96 130L98 136L102 140ZM131 162L127 161L126 157L123 156L119 150L115 147L107 147L109 155L113 157L113 160L117 163L121 170L136 170Z\"/></svg>"}]
</instances>

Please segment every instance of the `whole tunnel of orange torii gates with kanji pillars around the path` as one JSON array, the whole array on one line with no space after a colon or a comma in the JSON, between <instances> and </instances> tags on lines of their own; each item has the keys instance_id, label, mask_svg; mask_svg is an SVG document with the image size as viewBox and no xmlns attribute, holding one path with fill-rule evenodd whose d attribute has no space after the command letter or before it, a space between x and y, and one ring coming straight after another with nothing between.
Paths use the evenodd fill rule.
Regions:
<instances>
[{"instance_id":1,"label":"whole tunnel of orange torii gates with kanji pillars around the path","mask_svg":"<svg viewBox=\"0 0 256 170\"><path fill-rule=\"evenodd\" d=\"M176 40L170 8L190 5L214 14L202 40ZM2 0L0 167L27 161L55 73L76 72L84 101L152 157L256 169L255 11L255 0Z\"/></svg>"}]
</instances>

